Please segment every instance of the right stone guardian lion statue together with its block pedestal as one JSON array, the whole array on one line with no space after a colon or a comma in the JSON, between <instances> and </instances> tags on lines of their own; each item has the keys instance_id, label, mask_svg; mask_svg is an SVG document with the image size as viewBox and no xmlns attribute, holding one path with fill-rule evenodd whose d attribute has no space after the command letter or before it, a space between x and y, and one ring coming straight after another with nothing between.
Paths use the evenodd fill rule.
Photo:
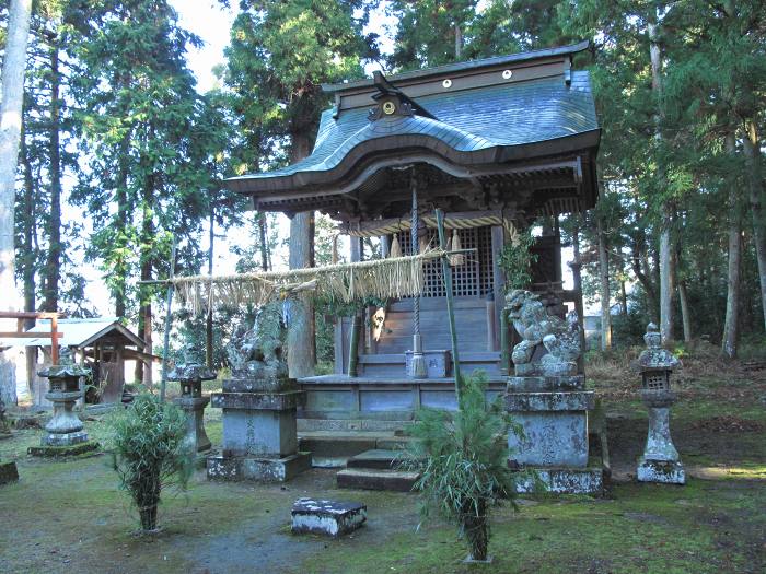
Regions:
<instances>
[{"instance_id":1,"label":"right stone guardian lion statue together with its block pedestal","mask_svg":"<svg viewBox=\"0 0 766 574\"><path fill-rule=\"evenodd\" d=\"M508 377L506 409L524 431L523 436L509 433L509 465L534 469L549 492L601 493L603 468L590 460L588 441L595 396L578 373L577 316L552 315L537 295L523 290L508 294L506 312L522 339L511 355L514 376ZM533 488L532 480L517 483L519 492Z\"/></svg>"}]
</instances>

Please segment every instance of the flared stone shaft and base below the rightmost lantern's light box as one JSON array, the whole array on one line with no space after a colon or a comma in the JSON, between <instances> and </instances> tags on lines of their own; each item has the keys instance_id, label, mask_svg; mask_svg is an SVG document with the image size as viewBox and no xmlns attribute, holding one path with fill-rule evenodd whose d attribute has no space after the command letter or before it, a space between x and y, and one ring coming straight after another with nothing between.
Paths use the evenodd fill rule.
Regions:
<instances>
[{"instance_id":1,"label":"flared stone shaft and base below the rightmost lantern's light box","mask_svg":"<svg viewBox=\"0 0 766 574\"><path fill-rule=\"evenodd\" d=\"M670 407L675 394L643 390L641 395L649 409L649 431L636 478L640 482L685 484L686 472L670 434Z\"/></svg>"}]
</instances>

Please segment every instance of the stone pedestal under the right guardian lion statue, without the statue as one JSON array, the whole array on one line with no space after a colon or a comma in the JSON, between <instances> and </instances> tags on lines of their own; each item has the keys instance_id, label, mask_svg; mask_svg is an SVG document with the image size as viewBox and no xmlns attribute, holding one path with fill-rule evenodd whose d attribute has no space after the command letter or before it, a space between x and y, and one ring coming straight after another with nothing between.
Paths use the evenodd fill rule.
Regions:
<instances>
[{"instance_id":1,"label":"stone pedestal under the right guardian lion statue, without the statue","mask_svg":"<svg viewBox=\"0 0 766 574\"><path fill-rule=\"evenodd\" d=\"M603 470L588 446L588 413L594 407L582 375L509 377L506 409L523 430L521 436L509 433L509 465L535 470L548 492L601 493ZM531 492L534 483L517 488Z\"/></svg>"}]
</instances>

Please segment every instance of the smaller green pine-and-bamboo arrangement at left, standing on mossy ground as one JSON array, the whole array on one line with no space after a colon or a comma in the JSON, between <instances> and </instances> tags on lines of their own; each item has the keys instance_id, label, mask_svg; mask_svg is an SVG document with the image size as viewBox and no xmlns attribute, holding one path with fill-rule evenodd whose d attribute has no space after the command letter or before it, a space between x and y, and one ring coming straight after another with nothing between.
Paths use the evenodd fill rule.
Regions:
<instances>
[{"instance_id":1,"label":"smaller green pine-and-bamboo arrangement at left, standing on mossy ground","mask_svg":"<svg viewBox=\"0 0 766 574\"><path fill-rule=\"evenodd\" d=\"M163 489L185 490L194 458L185 444L186 415L175 405L148 393L136 397L112 421L113 467L120 489L130 493L141 529L156 530L156 508Z\"/></svg>"}]
</instances>

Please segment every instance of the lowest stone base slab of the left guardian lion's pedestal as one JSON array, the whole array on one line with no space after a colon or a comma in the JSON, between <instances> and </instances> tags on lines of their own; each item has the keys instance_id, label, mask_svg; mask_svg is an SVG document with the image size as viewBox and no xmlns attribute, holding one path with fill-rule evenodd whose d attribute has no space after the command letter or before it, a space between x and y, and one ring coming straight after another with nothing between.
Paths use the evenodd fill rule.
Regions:
<instances>
[{"instance_id":1,"label":"lowest stone base slab of the left guardian lion's pedestal","mask_svg":"<svg viewBox=\"0 0 766 574\"><path fill-rule=\"evenodd\" d=\"M283 458L213 455L207 459L209 480L285 482L311 468L311 453Z\"/></svg>"}]
</instances>

